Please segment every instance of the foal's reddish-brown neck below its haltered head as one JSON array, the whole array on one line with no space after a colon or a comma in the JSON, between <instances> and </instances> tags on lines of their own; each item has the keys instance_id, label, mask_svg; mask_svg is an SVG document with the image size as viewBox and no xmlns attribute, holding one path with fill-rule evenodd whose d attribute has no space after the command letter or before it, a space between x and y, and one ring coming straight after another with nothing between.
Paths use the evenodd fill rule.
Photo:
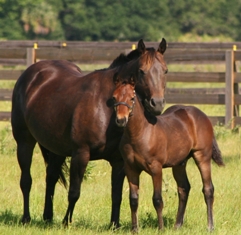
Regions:
<instances>
[{"instance_id":1,"label":"foal's reddish-brown neck below its haltered head","mask_svg":"<svg viewBox=\"0 0 241 235\"><path fill-rule=\"evenodd\" d=\"M136 97L132 116L130 116L127 126L125 128L125 134L130 139L142 139L145 130L149 127L150 123L147 121L144 115L144 109L141 106L140 101Z\"/></svg>"}]
</instances>

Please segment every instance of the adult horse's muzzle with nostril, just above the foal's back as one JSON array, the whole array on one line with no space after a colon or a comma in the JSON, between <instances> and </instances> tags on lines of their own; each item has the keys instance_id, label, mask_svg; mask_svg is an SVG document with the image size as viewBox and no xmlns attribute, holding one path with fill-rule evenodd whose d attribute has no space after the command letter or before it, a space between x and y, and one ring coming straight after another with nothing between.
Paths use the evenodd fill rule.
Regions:
<instances>
[{"instance_id":1,"label":"adult horse's muzzle with nostril, just above the foal's back","mask_svg":"<svg viewBox=\"0 0 241 235\"><path fill-rule=\"evenodd\" d=\"M165 105L165 98L151 98L149 101L147 99L144 100L145 109L155 116L162 113Z\"/></svg>"}]
</instances>

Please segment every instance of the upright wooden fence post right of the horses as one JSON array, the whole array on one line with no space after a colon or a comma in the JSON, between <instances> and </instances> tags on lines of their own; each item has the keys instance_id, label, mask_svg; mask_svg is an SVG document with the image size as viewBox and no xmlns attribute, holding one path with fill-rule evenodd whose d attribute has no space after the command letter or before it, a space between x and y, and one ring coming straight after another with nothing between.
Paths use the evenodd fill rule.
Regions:
<instances>
[{"instance_id":1,"label":"upright wooden fence post right of the horses","mask_svg":"<svg viewBox=\"0 0 241 235\"><path fill-rule=\"evenodd\" d=\"M225 73L225 125L234 128L234 52L228 50L225 52L226 73Z\"/></svg>"}]
</instances>

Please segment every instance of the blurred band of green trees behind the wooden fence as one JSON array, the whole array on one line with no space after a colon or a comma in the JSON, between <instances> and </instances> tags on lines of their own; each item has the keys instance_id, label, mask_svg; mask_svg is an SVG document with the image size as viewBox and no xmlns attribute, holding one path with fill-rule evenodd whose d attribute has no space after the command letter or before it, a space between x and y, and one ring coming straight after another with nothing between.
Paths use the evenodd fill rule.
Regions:
<instances>
[{"instance_id":1,"label":"blurred band of green trees behind the wooden fence","mask_svg":"<svg viewBox=\"0 0 241 235\"><path fill-rule=\"evenodd\" d=\"M241 39L241 0L0 0L1 39Z\"/></svg>"}]
</instances>

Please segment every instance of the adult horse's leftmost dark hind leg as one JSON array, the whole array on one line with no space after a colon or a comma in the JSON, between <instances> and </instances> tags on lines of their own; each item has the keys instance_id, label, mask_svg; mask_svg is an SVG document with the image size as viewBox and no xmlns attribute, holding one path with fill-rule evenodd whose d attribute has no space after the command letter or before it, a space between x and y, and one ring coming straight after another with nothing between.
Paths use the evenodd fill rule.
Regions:
<instances>
[{"instance_id":1,"label":"adult horse's leftmost dark hind leg","mask_svg":"<svg viewBox=\"0 0 241 235\"><path fill-rule=\"evenodd\" d=\"M21 222L23 224L30 222L31 216L29 212L29 194L32 186L32 177L30 174L30 167L32 163L33 149L36 144L35 139L30 134L17 140L17 158L21 169L20 188L23 194L23 217Z\"/></svg>"}]
</instances>

